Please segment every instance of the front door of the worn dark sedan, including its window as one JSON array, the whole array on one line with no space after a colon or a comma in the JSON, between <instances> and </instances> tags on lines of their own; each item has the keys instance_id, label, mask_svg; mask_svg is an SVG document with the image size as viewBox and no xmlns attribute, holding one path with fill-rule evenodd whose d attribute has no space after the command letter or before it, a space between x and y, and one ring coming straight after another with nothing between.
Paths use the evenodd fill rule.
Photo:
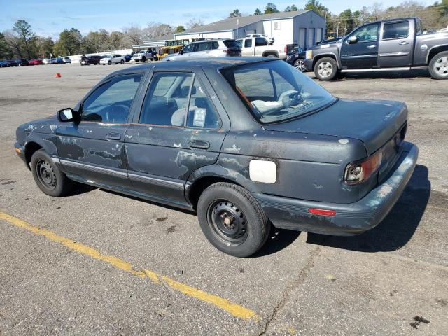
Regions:
<instances>
[{"instance_id":1,"label":"front door of the worn dark sedan, including its window","mask_svg":"<svg viewBox=\"0 0 448 336\"><path fill-rule=\"evenodd\" d=\"M60 123L56 146L71 177L97 185L130 188L125 132L144 73L118 75L94 88L80 104L80 121Z\"/></svg>"}]
</instances>

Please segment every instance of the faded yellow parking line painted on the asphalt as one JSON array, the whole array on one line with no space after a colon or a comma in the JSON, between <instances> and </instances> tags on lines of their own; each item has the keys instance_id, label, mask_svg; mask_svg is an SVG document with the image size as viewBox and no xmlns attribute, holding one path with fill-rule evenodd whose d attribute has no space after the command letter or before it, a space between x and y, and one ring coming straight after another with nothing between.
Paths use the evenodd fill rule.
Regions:
<instances>
[{"instance_id":1,"label":"faded yellow parking line painted on the asphalt","mask_svg":"<svg viewBox=\"0 0 448 336\"><path fill-rule=\"evenodd\" d=\"M219 297L218 295L213 295L213 294L203 292L202 290L199 290L197 288L177 282L173 279L170 279L167 276L155 273L148 269L143 269L141 271L138 271L138 270L134 269L132 264L130 264L129 262L125 262L125 260L113 257L112 255L102 254L95 248L91 248L89 246L80 244L76 241L59 236L59 235L55 234L55 232L51 232L49 230L38 228L37 226L31 225L25 221L22 221L20 218L10 216L4 212L0 212L0 219L3 219L4 221L11 223L18 228L22 228L29 232L33 232L36 235L41 235L45 238L48 238L51 241L56 241L57 243L62 244L64 246L66 246L66 248L69 248L73 251L82 253L84 255L88 255L97 260L104 261L104 262L106 262L110 265L113 265L119 269L123 269L123 271L128 272L134 276L139 276L141 278L148 278L155 284L161 284L163 281L167 284L167 286L169 286L170 288L172 288L174 290L178 290L179 292L181 292L185 295L188 295L190 297L195 297L198 300L201 300L203 302L213 304L214 306L221 308L221 309L227 311L229 314L236 316L238 318L258 319L257 314L255 314L255 312L251 309L241 307L239 304L233 303L229 300L225 300L222 297Z\"/></svg>"}]
</instances>

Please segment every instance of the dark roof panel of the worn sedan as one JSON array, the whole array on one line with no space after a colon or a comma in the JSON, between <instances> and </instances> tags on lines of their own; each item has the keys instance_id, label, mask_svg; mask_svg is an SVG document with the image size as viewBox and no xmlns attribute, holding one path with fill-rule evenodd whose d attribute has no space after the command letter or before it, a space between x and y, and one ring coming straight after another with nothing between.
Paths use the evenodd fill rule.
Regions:
<instances>
[{"instance_id":1,"label":"dark roof panel of the worn sedan","mask_svg":"<svg viewBox=\"0 0 448 336\"><path fill-rule=\"evenodd\" d=\"M185 69L190 70L193 66L200 66L202 68L208 69L223 69L232 66L241 66L245 64L253 64L260 62L275 62L279 61L276 58L268 58L268 57L213 57L213 58L203 58L203 59L187 59L187 60L177 60L177 61L169 61L169 62L158 62L158 63L149 63L138 66L131 66L126 69L118 70L114 73L111 73L109 76L116 76L119 74L126 73L136 73L136 72L144 72L147 69ZM283 61L281 61L283 62ZM109 77L108 76L108 77Z\"/></svg>"}]
</instances>

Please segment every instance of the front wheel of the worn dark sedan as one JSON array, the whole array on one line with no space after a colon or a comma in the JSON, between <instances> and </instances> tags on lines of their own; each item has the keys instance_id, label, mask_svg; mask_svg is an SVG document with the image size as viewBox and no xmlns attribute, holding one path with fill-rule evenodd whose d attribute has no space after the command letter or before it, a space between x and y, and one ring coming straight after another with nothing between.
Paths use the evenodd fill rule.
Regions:
<instances>
[{"instance_id":1,"label":"front wheel of the worn dark sedan","mask_svg":"<svg viewBox=\"0 0 448 336\"><path fill-rule=\"evenodd\" d=\"M73 181L59 170L43 149L39 149L31 156L31 171L39 189L49 196L66 195L73 187Z\"/></svg>"}]
</instances>

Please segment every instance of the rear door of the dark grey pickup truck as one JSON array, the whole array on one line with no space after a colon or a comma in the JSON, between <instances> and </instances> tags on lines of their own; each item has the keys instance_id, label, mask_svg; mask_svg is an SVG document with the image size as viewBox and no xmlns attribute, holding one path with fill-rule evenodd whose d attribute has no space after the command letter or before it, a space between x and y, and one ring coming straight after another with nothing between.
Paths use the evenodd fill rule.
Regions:
<instances>
[{"instance_id":1,"label":"rear door of the dark grey pickup truck","mask_svg":"<svg viewBox=\"0 0 448 336\"><path fill-rule=\"evenodd\" d=\"M409 20L383 22L379 41L379 66L410 66L414 48L414 29Z\"/></svg>"}]
</instances>

